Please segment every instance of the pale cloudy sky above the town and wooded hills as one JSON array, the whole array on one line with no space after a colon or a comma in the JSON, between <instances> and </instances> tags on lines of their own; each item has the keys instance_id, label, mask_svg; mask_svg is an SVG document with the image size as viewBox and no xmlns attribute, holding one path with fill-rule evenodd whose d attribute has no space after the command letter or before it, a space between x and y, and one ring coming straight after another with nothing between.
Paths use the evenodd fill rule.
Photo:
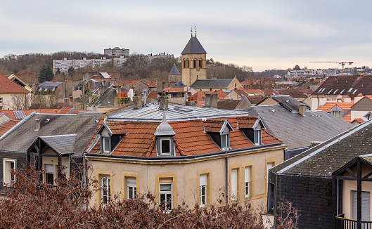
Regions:
<instances>
[{"instance_id":1,"label":"pale cloudy sky above the town and wooded hills","mask_svg":"<svg viewBox=\"0 0 372 229\"><path fill-rule=\"evenodd\" d=\"M0 0L0 57L129 48L181 55L197 27L207 58L255 72L372 67L372 1Z\"/></svg>"}]
</instances>

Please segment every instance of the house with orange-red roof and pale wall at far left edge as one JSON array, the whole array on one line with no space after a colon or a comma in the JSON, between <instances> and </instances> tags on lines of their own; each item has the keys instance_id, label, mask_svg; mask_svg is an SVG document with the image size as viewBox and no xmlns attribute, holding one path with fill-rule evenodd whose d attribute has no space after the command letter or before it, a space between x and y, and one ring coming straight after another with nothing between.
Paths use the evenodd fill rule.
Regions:
<instances>
[{"instance_id":1,"label":"house with orange-red roof and pale wall at far left edge","mask_svg":"<svg viewBox=\"0 0 372 229\"><path fill-rule=\"evenodd\" d=\"M28 107L29 93L23 86L0 74L0 110Z\"/></svg>"}]
</instances>

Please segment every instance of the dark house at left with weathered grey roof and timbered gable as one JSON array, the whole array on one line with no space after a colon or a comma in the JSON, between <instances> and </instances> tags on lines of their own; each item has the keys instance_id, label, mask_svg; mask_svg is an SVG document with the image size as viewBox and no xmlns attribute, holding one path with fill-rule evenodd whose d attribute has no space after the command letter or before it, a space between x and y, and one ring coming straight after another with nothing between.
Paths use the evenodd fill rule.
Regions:
<instances>
[{"instance_id":1,"label":"dark house at left with weathered grey roof and timbered gable","mask_svg":"<svg viewBox=\"0 0 372 229\"><path fill-rule=\"evenodd\" d=\"M13 182L10 169L31 164L44 169L45 183L82 163L82 154L101 121L101 112L39 114L32 112L0 137L0 191ZM39 158L39 159L37 159Z\"/></svg>"}]
</instances>

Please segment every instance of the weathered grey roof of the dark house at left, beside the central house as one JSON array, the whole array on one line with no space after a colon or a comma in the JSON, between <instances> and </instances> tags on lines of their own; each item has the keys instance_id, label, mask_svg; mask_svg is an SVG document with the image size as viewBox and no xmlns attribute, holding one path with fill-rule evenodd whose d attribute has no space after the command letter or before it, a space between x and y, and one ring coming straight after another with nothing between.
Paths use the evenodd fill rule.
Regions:
<instances>
[{"instance_id":1,"label":"weathered grey roof of the dark house at left, beside the central house","mask_svg":"<svg viewBox=\"0 0 372 229\"><path fill-rule=\"evenodd\" d=\"M101 120L101 112L79 114L39 114L33 112L0 137L0 151L26 152L39 136L77 134L74 156L81 156ZM35 119L41 128L35 131Z\"/></svg>"}]
</instances>

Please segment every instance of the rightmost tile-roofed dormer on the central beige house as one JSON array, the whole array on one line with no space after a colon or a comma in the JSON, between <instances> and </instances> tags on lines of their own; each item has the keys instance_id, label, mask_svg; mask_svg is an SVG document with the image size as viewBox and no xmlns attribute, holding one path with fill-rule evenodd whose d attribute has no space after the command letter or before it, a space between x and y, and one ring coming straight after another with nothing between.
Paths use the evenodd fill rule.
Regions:
<instances>
[{"instance_id":1,"label":"rightmost tile-roofed dormer on the central beige house","mask_svg":"<svg viewBox=\"0 0 372 229\"><path fill-rule=\"evenodd\" d=\"M260 117L238 117L237 128L253 143L262 145L262 129L265 128Z\"/></svg>"}]
</instances>

